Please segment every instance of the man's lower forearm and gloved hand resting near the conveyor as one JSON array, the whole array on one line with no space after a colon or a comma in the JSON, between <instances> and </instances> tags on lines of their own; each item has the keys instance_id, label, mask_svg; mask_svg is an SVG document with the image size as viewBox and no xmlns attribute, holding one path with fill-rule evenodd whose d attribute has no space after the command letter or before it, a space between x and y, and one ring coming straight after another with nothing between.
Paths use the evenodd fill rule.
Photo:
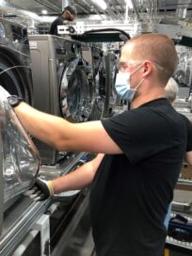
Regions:
<instances>
[{"instance_id":1,"label":"man's lower forearm and gloved hand resting near the conveyor","mask_svg":"<svg viewBox=\"0 0 192 256\"><path fill-rule=\"evenodd\" d=\"M100 153L92 161L53 181L37 179L35 183L37 188L32 188L27 193L33 200L46 200L59 192L87 187L92 182L103 158L104 154Z\"/></svg>"}]
</instances>

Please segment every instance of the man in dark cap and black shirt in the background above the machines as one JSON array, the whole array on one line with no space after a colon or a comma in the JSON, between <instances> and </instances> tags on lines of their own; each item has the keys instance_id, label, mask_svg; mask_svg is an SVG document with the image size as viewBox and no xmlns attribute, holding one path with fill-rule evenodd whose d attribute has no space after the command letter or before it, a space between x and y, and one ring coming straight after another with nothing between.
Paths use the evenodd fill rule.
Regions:
<instances>
[{"instance_id":1,"label":"man in dark cap and black shirt in the background above the machines","mask_svg":"<svg viewBox=\"0 0 192 256\"><path fill-rule=\"evenodd\" d=\"M49 34L59 36L57 33L57 25L62 25L64 21L72 22L76 17L76 8L66 7L64 8L61 15L59 15L56 20L51 24Z\"/></svg>"}]
</instances>

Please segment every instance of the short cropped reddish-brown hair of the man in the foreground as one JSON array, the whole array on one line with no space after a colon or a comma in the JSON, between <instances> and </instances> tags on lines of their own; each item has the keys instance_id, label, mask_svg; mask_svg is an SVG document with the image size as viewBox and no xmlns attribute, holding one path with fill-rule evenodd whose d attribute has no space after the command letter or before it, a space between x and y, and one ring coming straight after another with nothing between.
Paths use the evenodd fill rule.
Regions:
<instances>
[{"instance_id":1,"label":"short cropped reddish-brown hair of the man in the foreground","mask_svg":"<svg viewBox=\"0 0 192 256\"><path fill-rule=\"evenodd\" d=\"M177 67L178 56L173 40L164 34L149 33L134 37L126 44L134 43L136 58L140 60L153 60L163 70L158 70L158 79L165 85Z\"/></svg>"}]
</instances>

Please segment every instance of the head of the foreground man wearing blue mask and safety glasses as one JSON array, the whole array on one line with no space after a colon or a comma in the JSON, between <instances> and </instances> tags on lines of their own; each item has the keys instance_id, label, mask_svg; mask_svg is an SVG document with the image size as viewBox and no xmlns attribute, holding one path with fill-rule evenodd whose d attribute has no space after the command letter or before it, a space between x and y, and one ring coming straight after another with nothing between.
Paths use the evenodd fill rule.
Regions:
<instances>
[{"instance_id":1,"label":"head of the foreground man wearing blue mask and safety glasses","mask_svg":"<svg viewBox=\"0 0 192 256\"><path fill-rule=\"evenodd\" d=\"M121 50L116 80L120 97L129 102L137 98L137 103L165 97L165 87L177 62L175 45L166 35L143 34L128 40Z\"/></svg>"}]
</instances>

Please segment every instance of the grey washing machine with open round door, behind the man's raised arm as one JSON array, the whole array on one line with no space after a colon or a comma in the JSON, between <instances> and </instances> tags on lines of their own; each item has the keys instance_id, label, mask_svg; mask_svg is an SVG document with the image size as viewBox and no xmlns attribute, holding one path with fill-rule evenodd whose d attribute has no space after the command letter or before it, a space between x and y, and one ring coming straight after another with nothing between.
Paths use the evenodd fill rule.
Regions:
<instances>
[{"instance_id":1,"label":"grey washing machine with open round door, behind the man's raised arm","mask_svg":"<svg viewBox=\"0 0 192 256\"><path fill-rule=\"evenodd\" d=\"M30 35L34 105L71 122L92 120L95 83L91 47L53 35ZM35 139L43 165L69 157Z\"/></svg>"}]
</instances>

